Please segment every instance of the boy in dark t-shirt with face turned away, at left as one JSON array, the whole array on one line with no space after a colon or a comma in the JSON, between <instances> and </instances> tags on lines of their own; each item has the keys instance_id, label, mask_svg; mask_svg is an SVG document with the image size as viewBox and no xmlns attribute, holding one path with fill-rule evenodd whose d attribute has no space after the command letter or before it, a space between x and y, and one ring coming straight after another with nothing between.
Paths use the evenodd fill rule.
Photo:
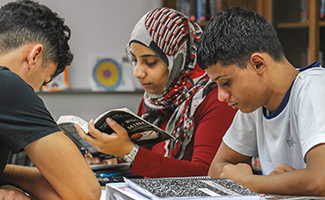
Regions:
<instances>
[{"instance_id":1,"label":"boy in dark t-shirt with face turned away, at left","mask_svg":"<svg viewBox=\"0 0 325 200\"><path fill-rule=\"evenodd\" d=\"M82 154L58 128L35 91L70 65L70 29L33 1L0 8L0 198L99 199ZM25 150L36 167L7 165Z\"/></svg>"}]
</instances>

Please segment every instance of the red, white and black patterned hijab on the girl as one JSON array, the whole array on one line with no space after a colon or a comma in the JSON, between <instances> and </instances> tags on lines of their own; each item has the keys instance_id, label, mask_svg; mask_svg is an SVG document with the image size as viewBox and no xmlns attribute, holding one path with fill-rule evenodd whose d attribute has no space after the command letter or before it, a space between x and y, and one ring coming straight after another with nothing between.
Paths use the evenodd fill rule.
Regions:
<instances>
[{"instance_id":1,"label":"red, white and black patterned hijab on the girl","mask_svg":"<svg viewBox=\"0 0 325 200\"><path fill-rule=\"evenodd\" d=\"M182 159L194 134L193 115L209 91L216 88L205 71L196 64L197 43L202 29L184 14L158 8L145 14L136 24L126 47L141 43L165 62L169 76L161 95L144 94L146 108L142 118L159 126L169 117L166 131L176 140L166 141L165 156Z\"/></svg>"}]
</instances>

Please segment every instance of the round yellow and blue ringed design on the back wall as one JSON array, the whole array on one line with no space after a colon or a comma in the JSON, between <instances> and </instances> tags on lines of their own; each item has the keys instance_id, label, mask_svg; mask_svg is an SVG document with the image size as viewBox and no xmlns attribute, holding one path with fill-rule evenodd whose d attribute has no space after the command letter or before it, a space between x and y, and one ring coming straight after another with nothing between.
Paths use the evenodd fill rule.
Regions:
<instances>
[{"instance_id":1,"label":"round yellow and blue ringed design on the back wall","mask_svg":"<svg viewBox=\"0 0 325 200\"><path fill-rule=\"evenodd\" d=\"M113 59L101 59L93 69L93 79L99 87L114 90L121 84L122 68Z\"/></svg>"}]
</instances>

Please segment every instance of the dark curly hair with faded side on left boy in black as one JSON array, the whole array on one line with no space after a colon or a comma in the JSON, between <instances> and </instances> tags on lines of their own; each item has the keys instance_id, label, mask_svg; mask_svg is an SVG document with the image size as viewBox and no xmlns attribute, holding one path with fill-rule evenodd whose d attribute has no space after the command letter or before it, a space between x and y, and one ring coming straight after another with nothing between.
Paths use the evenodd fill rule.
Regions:
<instances>
[{"instance_id":1,"label":"dark curly hair with faded side on left boy in black","mask_svg":"<svg viewBox=\"0 0 325 200\"><path fill-rule=\"evenodd\" d=\"M0 8L0 53L39 42L44 46L43 63L51 61L58 64L54 76L73 60L68 44L70 35L64 19L45 5L22 0Z\"/></svg>"}]
</instances>

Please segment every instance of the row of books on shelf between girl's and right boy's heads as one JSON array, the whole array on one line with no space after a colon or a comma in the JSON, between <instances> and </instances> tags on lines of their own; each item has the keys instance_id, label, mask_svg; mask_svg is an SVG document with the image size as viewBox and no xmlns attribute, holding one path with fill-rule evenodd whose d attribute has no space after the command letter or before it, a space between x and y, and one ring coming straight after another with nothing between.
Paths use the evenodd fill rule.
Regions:
<instances>
[{"instance_id":1,"label":"row of books on shelf between girl's and right boy's heads","mask_svg":"<svg viewBox=\"0 0 325 200\"><path fill-rule=\"evenodd\" d=\"M221 0L177 0L176 9L191 20L203 22L210 20L221 11Z\"/></svg>"}]
</instances>

